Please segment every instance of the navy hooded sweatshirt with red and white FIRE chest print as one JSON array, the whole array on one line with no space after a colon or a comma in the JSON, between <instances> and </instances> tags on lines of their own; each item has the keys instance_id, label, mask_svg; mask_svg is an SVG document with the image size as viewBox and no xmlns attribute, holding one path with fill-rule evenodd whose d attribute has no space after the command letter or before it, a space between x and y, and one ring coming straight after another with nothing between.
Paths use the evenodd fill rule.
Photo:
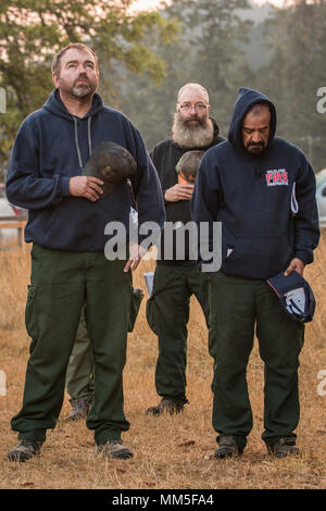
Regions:
<instances>
[{"instance_id":1,"label":"navy hooded sweatshirt with red and white FIRE chest print","mask_svg":"<svg viewBox=\"0 0 326 511\"><path fill-rule=\"evenodd\" d=\"M268 145L260 157L246 152L242 121L256 102L271 108ZM197 175L192 217L222 222L222 267L230 275L268 278L292 258L313 261L319 229L314 172L302 151L275 137L276 111L259 91L241 88L228 140L209 149ZM213 244L210 239L210 248Z\"/></svg>"}]
</instances>

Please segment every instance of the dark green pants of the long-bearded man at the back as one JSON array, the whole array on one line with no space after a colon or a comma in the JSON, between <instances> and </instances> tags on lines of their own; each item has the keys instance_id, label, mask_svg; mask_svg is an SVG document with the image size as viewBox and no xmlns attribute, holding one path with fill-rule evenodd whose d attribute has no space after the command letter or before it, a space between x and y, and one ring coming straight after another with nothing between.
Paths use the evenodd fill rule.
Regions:
<instances>
[{"instance_id":1,"label":"dark green pants of the long-bearded man at the back","mask_svg":"<svg viewBox=\"0 0 326 511\"><path fill-rule=\"evenodd\" d=\"M195 264L158 264L153 292L147 302L147 320L159 337L155 388L159 396L177 403L186 397L187 324L190 297L199 301L209 326L209 277Z\"/></svg>"}]
</instances>

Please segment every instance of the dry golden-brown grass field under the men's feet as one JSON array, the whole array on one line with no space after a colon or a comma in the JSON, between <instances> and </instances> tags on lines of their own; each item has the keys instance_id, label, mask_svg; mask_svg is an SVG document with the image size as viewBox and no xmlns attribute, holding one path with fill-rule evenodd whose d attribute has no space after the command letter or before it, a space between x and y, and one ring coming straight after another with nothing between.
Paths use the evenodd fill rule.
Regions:
<instances>
[{"instance_id":1,"label":"dry golden-brown grass field under the men's feet","mask_svg":"<svg viewBox=\"0 0 326 511\"><path fill-rule=\"evenodd\" d=\"M251 356L248 379L254 427L242 458L216 461L215 432L211 425L212 360L202 312L191 304L188 349L188 398L190 404L177 416L148 417L145 410L158 402L154 390L156 339L145 319L141 306L136 329L129 336L125 369L125 411L131 426L124 435L135 450L130 461L110 461L95 456L92 434L84 423L59 421L39 459L10 463L7 450L16 443L10 420L22 401L29 339L23 323L26 285L29 278L27 256L3 254L1 260L0 370L8 377L8 395L0 396L0 488L131 488L131 489L213 489L213 488L326 488L326 396L317 395L317 373L326 370L326 233L316 262L306 269L317 299L314 322L306 326L301 354L301 421L299 459L274 460L261 440L263 427L263 365L256 342ZM142 262L135 284L145 287L142 273L153 267ZM67 414L65 400L61 417Z\"/></svg>"}]
</instances>

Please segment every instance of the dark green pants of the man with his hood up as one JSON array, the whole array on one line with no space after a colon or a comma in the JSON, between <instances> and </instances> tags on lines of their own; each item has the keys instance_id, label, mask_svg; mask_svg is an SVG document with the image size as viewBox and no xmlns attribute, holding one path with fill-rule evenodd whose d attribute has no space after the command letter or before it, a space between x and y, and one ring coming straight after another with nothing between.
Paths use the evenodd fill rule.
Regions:
<instances>
[{"instance_id":1,"label":"dark green pants of the man with his hood up","mask_svg":"<svg viewBox=\"0 0 326 511\"><path fill-rule=\"evenodd\" d=\"M304 325L287 315L265 281L222 272L211 277L210 308L214 429L220 435L233 435L239 447L244 448L253 425L246 373L255 327L265 363L262 438L273 446L280 437L296 437Z\"/></svg>"}]
</instances>

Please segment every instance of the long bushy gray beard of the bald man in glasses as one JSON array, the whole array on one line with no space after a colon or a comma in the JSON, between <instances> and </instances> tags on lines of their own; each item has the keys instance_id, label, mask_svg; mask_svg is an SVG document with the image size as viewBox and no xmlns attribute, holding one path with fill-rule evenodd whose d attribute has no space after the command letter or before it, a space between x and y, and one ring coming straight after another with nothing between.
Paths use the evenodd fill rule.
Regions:
<instances>
[{"instance_id":1,"label":"long bushy gray beard of the bald man in glasses","mask_svg":"<svg viewBox=\"0 0 326 511\"><path fill-rule=\"evenodd\" d=\"M200 121L199 124L188 125L178 112L174 114L172 126L172 139L181 147L206 147L214 138L214 126L210 119Z\"/></svg>"}]
</instances>

